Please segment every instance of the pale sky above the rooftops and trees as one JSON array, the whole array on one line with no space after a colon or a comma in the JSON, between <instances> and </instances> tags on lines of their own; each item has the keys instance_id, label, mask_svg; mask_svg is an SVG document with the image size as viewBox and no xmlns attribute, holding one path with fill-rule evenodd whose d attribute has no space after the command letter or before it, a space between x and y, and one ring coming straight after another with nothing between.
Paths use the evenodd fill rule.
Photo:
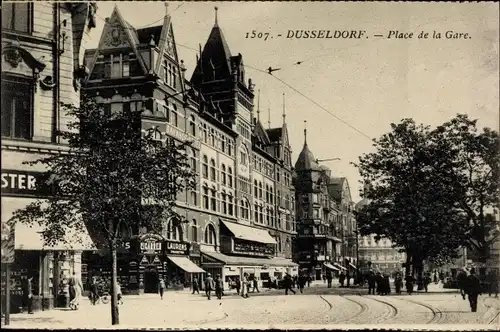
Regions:
<instances>
[{"instance_id":1,"label":"pale sky above the rooftops and trees","mask_svg":"<svg viewBox=\"0 0 500 332\"><path fill-rule=\"evenodd\" d=\"M166 8L162 2L106 1L98 2L87 48L97 47L115 5L136 28L161 25L168 8L188 78L217 6L232 55L243 55L246 77L260 90L261 122L267 127L270 117L271 127L281 125L285 93L293 163L307 121L309 148L318 159L341 159L323 164L333 176L347 177L355 201L361 178L351 162L373 152L370 139L391 123L413 118L436 126L466 113L480 127L499 127L498 3L171 1ZM253 30L273 38L246 38ZM289 30L365 33L360 39L295 39L286 38ZM389 39L390 31L414 35ZM418 38L422 31L427 39ZM432 38L434 31L442 38ZM446 31L469 38L447 39ZM268 67L281 69L269 75Z\"/></svg>"}]
</instances>

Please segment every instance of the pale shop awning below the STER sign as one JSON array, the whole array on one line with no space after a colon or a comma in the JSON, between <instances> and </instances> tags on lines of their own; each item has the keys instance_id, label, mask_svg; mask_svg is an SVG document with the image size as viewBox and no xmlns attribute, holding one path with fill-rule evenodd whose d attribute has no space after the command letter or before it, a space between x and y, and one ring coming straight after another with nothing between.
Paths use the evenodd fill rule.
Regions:
<instances>
[{"instance_id":1,"label":"pale shop awning below the STER sign","mask_svg":"<svg viewBox=\"0 0 500 332\"><path fill-rule=\"evenodd\" d=\"M82 227L84 228L84 227ZM17 223L14 230L14 248L17 250L96 250L94 242L87 231L68 230L64 241L53 245L45 245L41 232L43 226L38 224L29 226Z\"/></svg>"}]
</instances>

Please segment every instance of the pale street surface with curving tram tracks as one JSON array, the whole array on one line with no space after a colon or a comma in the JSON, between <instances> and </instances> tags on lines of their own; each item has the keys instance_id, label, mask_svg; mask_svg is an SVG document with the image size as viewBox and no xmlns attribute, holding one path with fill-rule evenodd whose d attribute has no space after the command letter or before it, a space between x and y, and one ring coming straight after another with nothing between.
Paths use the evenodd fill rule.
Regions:
<instances>
[{"instance_id":1,"label":"pale street surface with curving tram tracks","mask_svg":"<svg viewBox=\"0 0 500 332\"><path fill-rule=\"evenodd\" d=\"M363 294L361 294L363 293ZM361 294L361 295L360 295ZM252 294L251 294L252 295ZM255 294L257 295L257 294ZM184 292L126 296L120 306L119 327L251 327L272 328L337 324L474 324L494 328L499 324L500 300L481 296L478 312L470 312L468 301L456 292L373 296L366 290L309 288L304 294L262 292L243 299L236 294L222 301ZM90 305L84 299L80 310L50 310L34 315L11 316L12 328L106 328L110 306ZM443 326L444 327L444 326Z\"/></svg>"}]
</instances>

